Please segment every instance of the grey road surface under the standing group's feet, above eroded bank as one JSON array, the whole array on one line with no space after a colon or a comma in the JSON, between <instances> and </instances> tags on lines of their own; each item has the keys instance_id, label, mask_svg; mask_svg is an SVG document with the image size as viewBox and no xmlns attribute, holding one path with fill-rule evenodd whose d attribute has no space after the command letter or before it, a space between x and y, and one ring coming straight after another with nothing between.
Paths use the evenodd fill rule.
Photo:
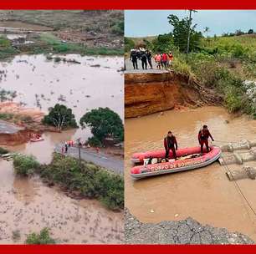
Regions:
<instances>
[{"instance_id":1,"label":"grey road surface under the standing group's feet, above eroded bank","mask_svg":"<svg viewBox=\"0 0 256 254\"><path fill-rule=\"evenodd\" d=\"M138 69L133 69L132 62L130 58L125 58L125 74L163 74L163 73L169 73L166 69L156 69L156 63L154 59L152 58L152 66L153 69L147 64L147 69L142 69L141 66L141 60L137 61L138 63Z\"/></svg>"}]
</instances>

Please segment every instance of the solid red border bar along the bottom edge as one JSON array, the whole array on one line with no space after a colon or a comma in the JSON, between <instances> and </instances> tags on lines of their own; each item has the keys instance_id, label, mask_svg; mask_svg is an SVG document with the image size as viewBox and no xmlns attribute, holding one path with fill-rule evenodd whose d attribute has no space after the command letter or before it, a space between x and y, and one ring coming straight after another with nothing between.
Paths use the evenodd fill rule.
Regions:
<instances>
[{"instance_id":1,"label":"solid red border bar along the bottom edge","mask_svg":"<svg viewBox=\"0 0 256 254\"><path fill-rule=\"evenodd\" d=\"M0 246L1 253L15 254L254 254L256 246L243 245L53 245L53 246Z\"/></svg>"}]
</instances>

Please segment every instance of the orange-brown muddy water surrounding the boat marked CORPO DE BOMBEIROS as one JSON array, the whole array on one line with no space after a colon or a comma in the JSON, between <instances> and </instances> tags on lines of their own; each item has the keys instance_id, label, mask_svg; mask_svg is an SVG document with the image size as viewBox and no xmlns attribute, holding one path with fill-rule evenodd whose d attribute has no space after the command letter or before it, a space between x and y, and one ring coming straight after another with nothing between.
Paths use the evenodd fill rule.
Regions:
<instances>
[{"instance_id":1,"label":"orange-brown muddy water surrounding the boat marked CORPO DE BOMBEIROS","mask_svg":"<svg viewBox=\"0 0 256 254\"><path fill-rule=\"evenodd\" d=\"M143 222L175 221L188 216L203 224L239 231L256 241L256 216L250 210L223 166L215 162L205 168L132 180L131 155L163 147L168 130L178 146L197 145L197 133L207 124L215 145L256 139L256 121L234 118L220 107L166 111L125 120L125 206ZM255 162L248 165L256 166ZM237 170L241 165L229 165ZM237 181L243 195L256 211L256 181Z\"/></svg>"}]
</instances>

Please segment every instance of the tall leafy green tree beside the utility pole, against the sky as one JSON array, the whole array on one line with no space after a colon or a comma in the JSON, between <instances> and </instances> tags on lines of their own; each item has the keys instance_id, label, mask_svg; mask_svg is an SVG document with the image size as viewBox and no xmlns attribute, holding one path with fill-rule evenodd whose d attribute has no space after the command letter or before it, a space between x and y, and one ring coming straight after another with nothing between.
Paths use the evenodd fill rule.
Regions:
<instances>
[{"instance_id":1,"label":"tall leafy green tree beside the utility pole, against the sky","mask_svg":"<svg viewBox=\"0 0 256 254\"><path fill-rule=\"evenodd\" d=\"M190 43L189 49L190 51L196 50L202 38L202 33L197 32L195 28L197 24L194 24L190 28L190 24L192 23L192 18L182 18L181 20L176 15L169 15L168 16L169 23L173 27L172 36L173 36L173 43L177 46L180 51L186 52L187 51L187 36L190 33Z\"/></svg>"}]
</instances>

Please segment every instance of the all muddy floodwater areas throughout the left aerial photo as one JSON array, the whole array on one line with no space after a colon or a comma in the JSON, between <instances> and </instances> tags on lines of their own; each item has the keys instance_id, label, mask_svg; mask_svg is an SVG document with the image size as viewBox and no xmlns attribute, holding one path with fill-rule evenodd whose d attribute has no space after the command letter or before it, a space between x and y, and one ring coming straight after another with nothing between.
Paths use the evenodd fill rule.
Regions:
<instances>
[{"instance_id":1,"label":"all muddy floodwater areas throughout the left aerial photo","mask_svg":"<svg viewBox=\"0 0 256 254\"><path fill-rule=\"evenodd\" d=\"M123 118L123 77L118 57L59 56L80 64L47 60L44 55L21 55L0 63L1 89L17 91L14 102L48 112L54 104L65 104L79 123L90 109L109 107ZM8 147L9 150L35 155L49 163L55 145L81 137L90 130L44 133L44 141ZM76 201L40 179L19 178L11 161L0 159L0 242L13 242L19 231L23 242L28 233L45 226L59 242L119 243L123 240L123 213L110 211L99 201Z\"/></svg>"}]
</instances>

